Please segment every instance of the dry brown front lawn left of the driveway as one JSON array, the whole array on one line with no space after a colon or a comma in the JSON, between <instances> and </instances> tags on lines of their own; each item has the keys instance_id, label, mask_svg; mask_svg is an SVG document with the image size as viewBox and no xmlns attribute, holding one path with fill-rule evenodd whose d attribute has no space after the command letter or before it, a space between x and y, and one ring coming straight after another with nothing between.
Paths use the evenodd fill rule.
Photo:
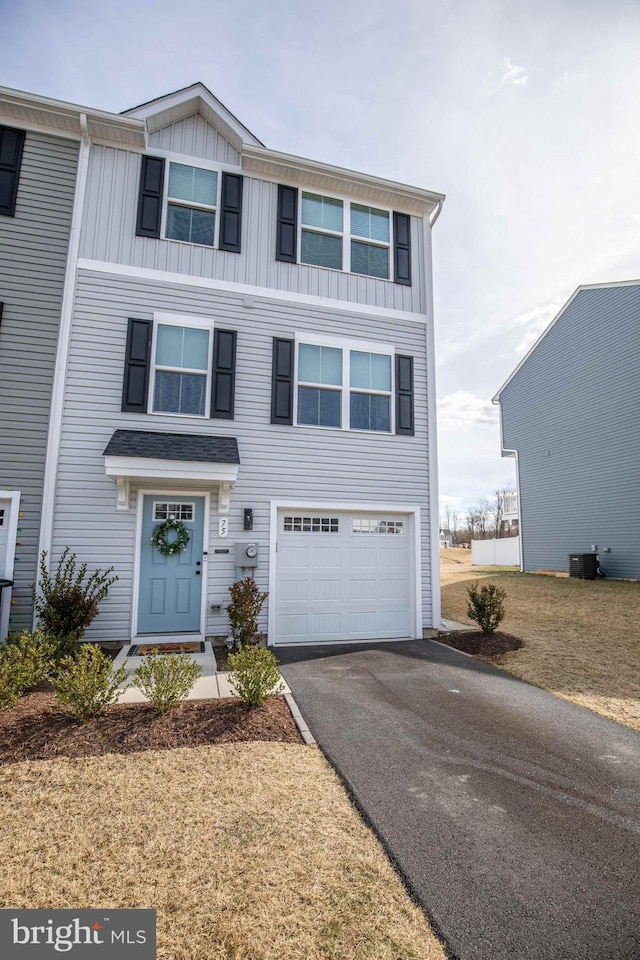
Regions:
<instances>
[{"instance_id":1,"label":"dry brown front lawn left of the driveway","mask_svg":"<svg viewBox=\"0 0 640 960\"><path fill-rule=\"evenodd\" d=\"M224 744L0 770L0 905L152 907L160 960L444 960L320 752Z\"/></svg>"}]
</instances>

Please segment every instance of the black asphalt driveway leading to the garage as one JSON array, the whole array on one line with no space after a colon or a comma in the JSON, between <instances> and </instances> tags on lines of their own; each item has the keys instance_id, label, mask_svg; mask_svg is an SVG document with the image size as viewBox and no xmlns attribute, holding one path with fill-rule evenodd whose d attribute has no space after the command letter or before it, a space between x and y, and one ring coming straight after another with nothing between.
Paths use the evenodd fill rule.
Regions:
<instances>
[{"instance_id":1,"label":"black asphalt driveway leading to the garage","mask_svg":"<svg viewBox=\"0 0 640 960\"><path fill-rule=\"evenodd\" d=\"M277 653L452 957L638 960L638 734L431 641Z\"/></svg>"}]
</instances>

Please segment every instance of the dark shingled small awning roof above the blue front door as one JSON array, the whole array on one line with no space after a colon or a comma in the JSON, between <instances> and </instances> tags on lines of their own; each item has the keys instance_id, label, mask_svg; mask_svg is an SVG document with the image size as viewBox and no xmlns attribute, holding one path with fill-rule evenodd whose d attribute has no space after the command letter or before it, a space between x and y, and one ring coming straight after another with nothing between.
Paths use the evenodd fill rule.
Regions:
<instances>
[{"instance_id":1,"label":"dark shingled small awning roof above the blue front door","mask_svg":"<svg viewBox=\"0 0 640 960\"><path fill-rule=\"evenodd\" d=\"M104 456L240 463L238 441L235 437L156 433L151 430L116 430L105 448Z\"/></svg>"}]
</instances>

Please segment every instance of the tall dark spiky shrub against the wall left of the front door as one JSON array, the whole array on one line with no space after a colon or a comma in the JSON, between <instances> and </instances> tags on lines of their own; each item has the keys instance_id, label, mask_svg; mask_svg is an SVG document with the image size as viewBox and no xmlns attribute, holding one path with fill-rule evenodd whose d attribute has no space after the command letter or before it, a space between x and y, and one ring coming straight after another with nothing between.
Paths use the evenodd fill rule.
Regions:
<instances>
[{"instance_id":1,"label":"tall dark spiky shrub against the wall left of the front door","mask_svg":"<svg viewBox=\"0 0 640 960\"><path fill-rule=\"evenodd\" d=\"M34 587L33 602L38 620L45 632L55 640L58 658L71 654L98 613L98 604L109 587L118 579L110 576L113 567L104 572L94 570L87 578L87 564L76 570L76 555L65 547L55 576L47 569L47 553L40 557L40 593Z\"/></svg>"}]
</instances>

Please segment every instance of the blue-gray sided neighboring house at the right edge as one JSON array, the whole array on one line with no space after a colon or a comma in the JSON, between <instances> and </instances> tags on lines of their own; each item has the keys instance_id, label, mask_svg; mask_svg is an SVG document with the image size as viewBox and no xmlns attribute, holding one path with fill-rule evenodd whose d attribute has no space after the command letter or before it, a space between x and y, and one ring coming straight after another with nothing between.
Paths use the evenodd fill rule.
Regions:
<instances>
[{"instance_id":1,"label":"blue-gray sided neighboring house at the right edge","mask_svg":"<svg viewBox=\"0 0 640 960\"><path fill-rule=\"evenodd\" d=\"M640 281L579 287L500 388L522 569L640 578Z\"/></svg>"}]
</instances>

